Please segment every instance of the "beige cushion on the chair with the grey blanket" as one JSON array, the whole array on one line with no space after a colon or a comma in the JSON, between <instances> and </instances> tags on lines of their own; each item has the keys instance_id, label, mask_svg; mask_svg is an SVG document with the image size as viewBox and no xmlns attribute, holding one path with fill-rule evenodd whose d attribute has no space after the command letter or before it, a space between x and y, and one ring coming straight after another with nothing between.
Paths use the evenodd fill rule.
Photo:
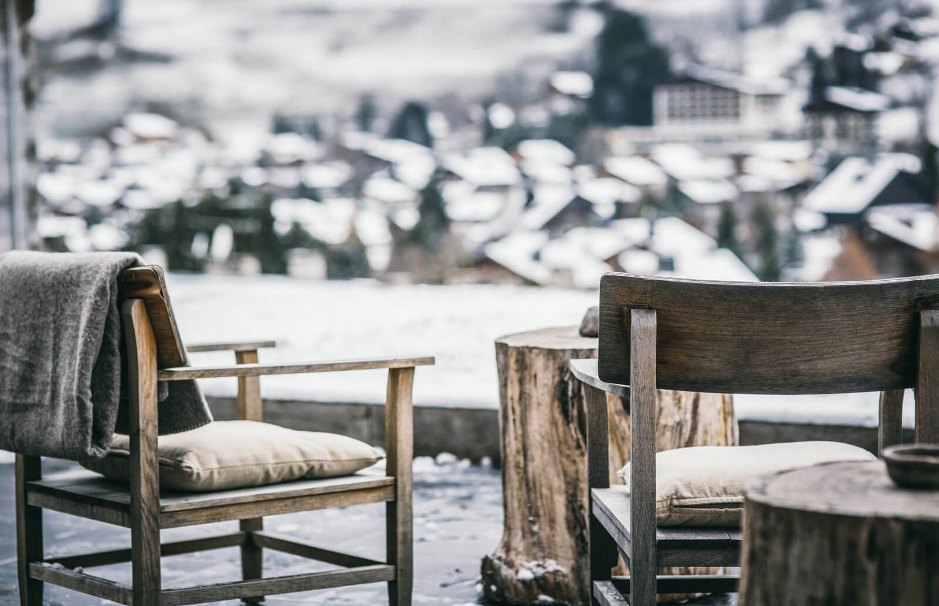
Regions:
<instances>
[{"instance_id":1,"label":"beige cushion on the chair with the grey blanket","mask_svg":"<svg viewBox=\"0 0 939 606\"><path fill-rule=\"evenodd\" d=\"M126 482L130 455L128 436L115 434L107 457L82 465ZM160 436L158 456L160 486L193 491L355 474L385 457L377 448L346 436L255 421L213 421Z\"/></svg>"}]
</instances>

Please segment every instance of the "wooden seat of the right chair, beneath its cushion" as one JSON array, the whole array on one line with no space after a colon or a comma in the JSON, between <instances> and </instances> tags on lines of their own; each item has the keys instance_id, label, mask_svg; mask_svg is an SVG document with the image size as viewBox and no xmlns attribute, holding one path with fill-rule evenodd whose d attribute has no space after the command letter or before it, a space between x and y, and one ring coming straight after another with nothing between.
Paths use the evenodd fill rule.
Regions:
<instances>
[{"instance_id":1,"label":"wooden seat of the right chair, beneath its cushion","mask_svg":"<svg viewBox=\"0 0 939 606\"><path fill-rule=\"evenodd\" d=\"M629 489L592 489L591 511L620 552L632 557ZM658 566L740 566L739 528L659 526L655 529Z\"/></svg>"}]
</instances>

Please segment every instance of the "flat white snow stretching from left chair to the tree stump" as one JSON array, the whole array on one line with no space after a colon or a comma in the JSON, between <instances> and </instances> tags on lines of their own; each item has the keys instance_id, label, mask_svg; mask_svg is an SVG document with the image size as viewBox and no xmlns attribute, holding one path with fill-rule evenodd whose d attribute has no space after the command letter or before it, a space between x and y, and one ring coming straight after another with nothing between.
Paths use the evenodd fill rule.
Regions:
<instances>
[{"instance_id":1,"label":"flat white snow stretching from left chair to the tree stump","mask_svg":"<svg viewBox=\"0 0 939 606\"><path fill-rule=\"evenodd\" d=\"M417 370L415 403L494 408L499 402L493 341L503 334L577 325L595 291L512 286L385 286L279 276L169 276L186 342L275 339L262 362L395 354L437 357ZM231 364L230 353L193 354L191 363ZM265 377L265 396L383 402L385 371ZM204 381L232 396L233 379Z\"/></svg>"}]
</instances>

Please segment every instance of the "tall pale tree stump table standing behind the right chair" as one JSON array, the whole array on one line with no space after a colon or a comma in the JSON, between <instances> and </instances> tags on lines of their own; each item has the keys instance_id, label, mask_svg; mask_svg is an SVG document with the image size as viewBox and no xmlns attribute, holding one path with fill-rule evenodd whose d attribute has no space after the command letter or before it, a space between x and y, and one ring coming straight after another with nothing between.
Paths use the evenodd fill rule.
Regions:
<instances>
[{"instance_id":1,"label":"tall pale tree stump table standing behind the right chair","mask_svg":"<svg viewBox=\"0 0 939 606\"><path fill-rule=\"evenodd\" d=\"M486 598L591 603L585 393L569 362L595 358L596 348L576 326L496 340L505 516L499 548L483 559ZM622 484L628 402L611 394L607 401L610 482ZM731 396L659 390L657 427L659 450L737 443Z\"/></svg>"}]
</instances>

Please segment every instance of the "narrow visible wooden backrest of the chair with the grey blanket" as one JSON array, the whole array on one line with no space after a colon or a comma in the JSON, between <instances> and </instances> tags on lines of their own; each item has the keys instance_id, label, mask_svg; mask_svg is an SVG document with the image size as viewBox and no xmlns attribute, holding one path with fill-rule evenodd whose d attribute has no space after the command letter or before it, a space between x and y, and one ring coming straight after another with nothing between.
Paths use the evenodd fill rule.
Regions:
<instances>
[{"instance_id":1,"label":"narrow visible wooden backrest of the chair with the grey blanket","mask_svg":"<svg viewBox=\"0 0 939 606\"><path fill-rule=\"evenodd\" d=\"M118 278L119 300L142 299L157 342L157 367L172 368L188 364L186 349L179 338L173 307L166 294L163 269L158 265L132 267Z\"/></svg>"}]
</instances>

